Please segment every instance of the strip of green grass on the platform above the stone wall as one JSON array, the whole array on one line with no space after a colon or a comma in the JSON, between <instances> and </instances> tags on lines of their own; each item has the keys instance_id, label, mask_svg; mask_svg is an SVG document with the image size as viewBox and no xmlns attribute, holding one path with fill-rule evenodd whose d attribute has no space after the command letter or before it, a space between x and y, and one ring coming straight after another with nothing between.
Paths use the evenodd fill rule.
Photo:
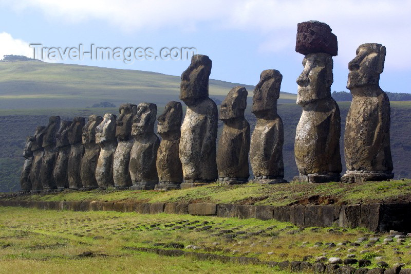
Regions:
<instances>
[{"instance_id":1,"label":"strip of green grass on the platform above the stone wall","mask_svg":"<svg viewBox=\"0 0 411 274\"><path fill-rule=\"evenodd\" d=\"M315 197L313 197L315 196ZM173 202L210 202L218 204L247 204L284 206L289 204L357 204L378 203L392 200L409 201L411 197L411 179L363 182L361 184L290 184L221 186L210 184L172 191L136 191L136 190L91 190L63 191L55 193L31 194L12 197L26 200L109 200L115 202L136 203L173 203ZM310 198L310 199L309 199Z\"/></svg>"}]
</instances>

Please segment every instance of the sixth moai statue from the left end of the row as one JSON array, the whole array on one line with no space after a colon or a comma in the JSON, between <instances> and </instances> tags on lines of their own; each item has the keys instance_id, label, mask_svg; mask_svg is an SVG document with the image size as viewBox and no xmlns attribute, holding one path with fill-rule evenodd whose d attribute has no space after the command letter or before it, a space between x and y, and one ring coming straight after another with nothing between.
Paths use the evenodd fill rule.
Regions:
<instances>
[{"instance_id":1,"label":"sixth moai statue from the left end of the row","mask_svg":"<svg viewBox=\"0 0 411 274\"><path fill-rule=\"evenodd\" d=\"M103 117L90 115L83 127L82 144L84 155L81 159L80 177L85 189L98 188L96 180L97 159L100 155L100 147L96 144L96 127L103 121Z\"/></svg>"}]
</instances>

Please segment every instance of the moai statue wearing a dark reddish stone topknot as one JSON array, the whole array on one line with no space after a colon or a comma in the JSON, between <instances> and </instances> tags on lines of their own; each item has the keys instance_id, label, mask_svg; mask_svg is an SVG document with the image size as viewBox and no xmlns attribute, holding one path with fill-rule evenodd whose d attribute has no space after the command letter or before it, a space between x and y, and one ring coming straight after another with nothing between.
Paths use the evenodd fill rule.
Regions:
<instances>
[{"instance_id":1,"label":"moai statue wearing a dark reddish stone topknot","mask_svg":"<svg viewBox=\"0 0 411 274\"><path fill-rule=\"evenodd\" d=\"M318 21L298 24L295 51L305 54L297 78L297 104L303 108L295 134L294 155L301 182L340 181L340 109L331 97L332 56L337 36Z\"/></svg>"}]
</instances>

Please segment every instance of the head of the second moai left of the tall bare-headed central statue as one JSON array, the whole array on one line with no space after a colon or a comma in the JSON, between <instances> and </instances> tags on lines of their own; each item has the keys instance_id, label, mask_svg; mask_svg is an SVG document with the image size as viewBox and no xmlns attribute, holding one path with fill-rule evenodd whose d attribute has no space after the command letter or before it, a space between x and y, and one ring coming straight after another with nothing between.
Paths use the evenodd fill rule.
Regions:
<instances>
[{"instance_id":1,"label":"head of the second moai left of the tall bare-headed central statue","mask_svg":"<svg viewBox=\"0 0 411 274\"><path fill-rule=\"evenodd\" d=\"M137 106L137 114L133 119L132 135L136 136L144 133L154 133L156 115L156 104L139 103Z\"/></svg>"}]
</instances>

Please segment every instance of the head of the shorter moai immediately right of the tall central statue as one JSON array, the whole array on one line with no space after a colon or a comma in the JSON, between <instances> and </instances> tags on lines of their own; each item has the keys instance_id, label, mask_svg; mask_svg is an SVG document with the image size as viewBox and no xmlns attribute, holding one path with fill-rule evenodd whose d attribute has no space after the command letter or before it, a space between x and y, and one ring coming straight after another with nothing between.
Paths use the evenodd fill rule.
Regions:
<instances>
[{"instance_id":1,"label":"head of the shorter moai immediately right of the tall central statue","mask_svg":"<svg viewBox=\"0 0 411 274\"><path fill-rule=\"evenodd\" d=\"M220 106L220 120L230 120L244 117L247 107L247 89L244 86L236 86L230 90Z\"/></svg>"}]
</instances>

